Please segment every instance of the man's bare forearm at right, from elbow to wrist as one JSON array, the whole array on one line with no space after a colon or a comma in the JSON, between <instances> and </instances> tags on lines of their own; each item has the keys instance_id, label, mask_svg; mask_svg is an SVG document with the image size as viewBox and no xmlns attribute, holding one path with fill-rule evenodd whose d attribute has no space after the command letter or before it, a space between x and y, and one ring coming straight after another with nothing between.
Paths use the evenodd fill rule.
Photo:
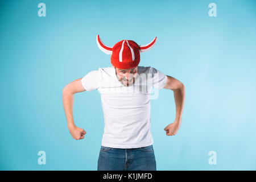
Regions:
<instances>
[{"instance_id":1,"label":"man's bare forearm at right, from elbow to wrist","mask_svg":"<svg viewBox=\"0 0 256 182\"><path fill-rule=\"evenodd\" d=\"M185 86L174 90L174 100L176 105L176 119L175 121L181 123L183 107L185 104Z\"/></svg>"}]
</instances>

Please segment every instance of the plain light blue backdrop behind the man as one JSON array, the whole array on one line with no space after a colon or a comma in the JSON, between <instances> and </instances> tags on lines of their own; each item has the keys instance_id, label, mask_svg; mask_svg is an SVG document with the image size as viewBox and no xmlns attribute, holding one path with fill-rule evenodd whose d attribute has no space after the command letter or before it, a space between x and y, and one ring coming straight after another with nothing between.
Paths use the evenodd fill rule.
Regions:
<instances>
[{"instance_id":1,"label":"plain light blue backdrop behind the man","mask_svg":"<svg viewBox=\"0 0 256 182\"><path fill-rule=\"evenodd\" d=\"M46 3L46 17L38 4ZM209 3L217 5L210 17ZM75 94L73 114L86 130L69 134L62 90L110 56L122 39L155 47L139 65L177 78L186 88L180 130L172 90L151 100L158 170L255 170L255 1L0 1L1 170L96 170L104 118L100 94ZM46 152L46 165L38 152ZM217 164L210 165L209 151Z\"/></svg>"}]
</instances>

